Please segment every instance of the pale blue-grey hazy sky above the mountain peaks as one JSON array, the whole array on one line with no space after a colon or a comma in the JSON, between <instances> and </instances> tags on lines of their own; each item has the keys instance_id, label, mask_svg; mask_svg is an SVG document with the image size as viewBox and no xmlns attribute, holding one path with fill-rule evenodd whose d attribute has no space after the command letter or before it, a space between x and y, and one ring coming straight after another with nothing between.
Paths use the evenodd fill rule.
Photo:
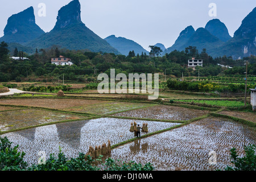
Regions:
<instances>
[{"instance_id":1,"label":"pale blue-grey hazy sky above the mountain peaks","mask_svg":"<svg viewBox=\"0 0 256 182\"><path fill-rule=\"evenodd\" d=\"M7 19L30 6L34 7L36 24L45 32L55 26L58 10L71 0L0 0L0 36ZM46 5L46 16L38 15L39 3ZM82 22L101 38L109 35L132 39L148 46L162 43L171 47L185 27L195 30L218 18L229 34L240 27L243 18L256 6L255 0L80 0ZM217 16L209 16L209 4L217 6Z\"/></svg>"}]
</instances>

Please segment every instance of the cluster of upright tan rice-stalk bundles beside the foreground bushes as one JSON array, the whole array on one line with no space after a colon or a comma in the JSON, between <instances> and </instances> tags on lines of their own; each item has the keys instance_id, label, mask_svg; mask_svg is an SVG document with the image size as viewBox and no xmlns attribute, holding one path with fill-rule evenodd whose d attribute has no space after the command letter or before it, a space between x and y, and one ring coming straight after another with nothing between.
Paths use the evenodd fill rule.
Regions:
<instances>
[{"instance_id":1,"label":"cluster of upright tan rice-stalk bundles beside the foreground bushes","mask_svg":"<svg viewBox=\"0 0 256 182\"><path fill-rule=\"evenodd\" d=\"M92 146L89 147L89 151L87 152L86 156L91 156L93 159L98 158L100 155L107 155L111 152L111 144L110 140L108 141L108 146L106 143L102 144L102 146L96 146L93 148Z\"/></svg>"}]
</instances>

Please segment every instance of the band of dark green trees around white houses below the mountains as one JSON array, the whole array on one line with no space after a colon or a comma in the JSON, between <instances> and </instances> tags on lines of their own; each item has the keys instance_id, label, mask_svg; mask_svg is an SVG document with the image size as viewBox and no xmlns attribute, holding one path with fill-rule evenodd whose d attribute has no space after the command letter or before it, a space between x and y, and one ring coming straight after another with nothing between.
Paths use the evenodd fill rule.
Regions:
<instances>
[{"instance_id":1,"label":"band of dark green trees around white houses below the mountains","mask_svg":"<svg viewBox=\"0 0 256 182\"><path fill-rule=\"evenodd\" d=\"M168 76L181 77L198 76L217 76L222 75L243 75L245 68L243 60L233 60L232 57L216 57L208 55L207 50L203 49L199 53L196 47L187 47L184 51L172 51L166 55L159 56L161 49L151 47L150 55L142 52L135 55L134 51L130 51L128 56L115 55L114 53L90 52L88 50L68 50L52 46L47 49L35 49L35 53L27 55L15 49L10 52L8 44L1 42L0 44L0 81L36 81L43 78L44 80L57 79L60 76L65 80L77 82L93 81L98 73L109 72L111 68L116 69L116 73L164 73ZM18 56L17 56L18 54ZM51 64L52 57L60 55L68 57L74 63L72 66L60 66ZM11 56L20 57L18 60L11 59ZM27 57L28 59L22 59ZM204 60L204 67L187 68L188 59L196 57L196 59ZM256 58L255 56L246 57L249 60L248 70L250 75L256 75ZM233 69L222 68L217 64L234 65Z\"/></svg>"}]
</instances>

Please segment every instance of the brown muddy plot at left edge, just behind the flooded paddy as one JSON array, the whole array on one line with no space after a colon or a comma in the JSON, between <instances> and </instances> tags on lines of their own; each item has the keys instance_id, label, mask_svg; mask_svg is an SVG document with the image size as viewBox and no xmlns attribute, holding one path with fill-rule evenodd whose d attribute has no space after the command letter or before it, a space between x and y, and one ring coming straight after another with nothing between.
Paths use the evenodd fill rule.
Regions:
<instances>
[{"instance_id":1,"label":"brown muddy plot at left edge, just behind the flooded paddy","mask_svg":"<svg viewBox=\"0 0 256 182\"><path fill-rule=\"evenodd\" d=\"M9 131L44 123L88 118L83 115L58 113L39 109L22 109L0 112L0 130Z\"/></svg>"}]
</instances>

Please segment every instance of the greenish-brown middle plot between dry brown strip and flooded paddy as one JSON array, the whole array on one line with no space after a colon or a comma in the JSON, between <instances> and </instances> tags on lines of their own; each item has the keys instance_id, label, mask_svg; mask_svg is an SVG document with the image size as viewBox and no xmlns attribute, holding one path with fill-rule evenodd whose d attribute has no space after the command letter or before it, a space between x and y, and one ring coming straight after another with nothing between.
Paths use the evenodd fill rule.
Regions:
<instances>
[{"instance_id":1,"label":"greenish-brown middle plot between dry brown strip and flooded paddy","mask_svg":"<svg viewBox=\"0 0 256 182\"><path fill-rule=\"evenodd\" d=\"M88 106L71 107L65 110L91 114L111 114L118 111L137 109L140 107L152 106L152 104L138 102L109 102Z\"/></svg>"}]
</instances>

